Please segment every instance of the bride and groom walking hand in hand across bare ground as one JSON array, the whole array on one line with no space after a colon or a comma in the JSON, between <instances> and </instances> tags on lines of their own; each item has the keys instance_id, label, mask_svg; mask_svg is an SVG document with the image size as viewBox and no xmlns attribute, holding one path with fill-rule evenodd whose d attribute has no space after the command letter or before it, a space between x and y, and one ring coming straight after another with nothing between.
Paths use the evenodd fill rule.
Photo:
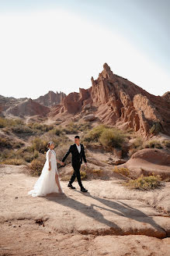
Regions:
<instances>
[{"instance_id":1,"label":"bride and groom walking hand in hand across bare ground","mask_svg":"<svg viewBox=\"0 0 170 256\"><path fill-rule=\"evenodd\" d=\"M85 158L85 149L83 144L80 143L80 137L77 135L75 136L75 144L72 144L68 149L68 152L64 155L62 161L57 160L56 153L54 151L54 142L50 141L48 143L48 151L46 153L46 162L43 165L43 169L39 179L36 181L33 190L30 190L28 194L31 194L33 197L44 197L50 193L60 193L64 194L64 191L61 188L60 179L58 176L57 171L57 162L61 165L64 165L64 161L71 153L72 155L72 167L74 172L71 176L71 180L68 183L68 187L71 189L75 189L72 186L72 183L75 181L77 177L78 185L82 192L87 192L88 190L85 189L82 185L81 175L80 175L80 168L82 165L82 159L87 166L87 160Z\"/></svg>"}]
</instances>

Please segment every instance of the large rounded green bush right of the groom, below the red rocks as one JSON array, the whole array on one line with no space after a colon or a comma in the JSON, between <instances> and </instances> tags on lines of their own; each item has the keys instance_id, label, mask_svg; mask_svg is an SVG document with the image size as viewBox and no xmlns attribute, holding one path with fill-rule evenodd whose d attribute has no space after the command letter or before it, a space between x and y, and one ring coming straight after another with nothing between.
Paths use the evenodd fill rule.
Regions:
<instances>
[{"instance_id":1,"label":"large rounded green bush right of the groom, below the red rocks","mask_svg":"<svg viewBox=\"0 0 170 256\"><path fill-rule=\"evenodd\" d=\"M125 135L120 130L106 129L103 130L99 141L104 148L121 148L125 142Z\"/></svg>"}]
</instances>

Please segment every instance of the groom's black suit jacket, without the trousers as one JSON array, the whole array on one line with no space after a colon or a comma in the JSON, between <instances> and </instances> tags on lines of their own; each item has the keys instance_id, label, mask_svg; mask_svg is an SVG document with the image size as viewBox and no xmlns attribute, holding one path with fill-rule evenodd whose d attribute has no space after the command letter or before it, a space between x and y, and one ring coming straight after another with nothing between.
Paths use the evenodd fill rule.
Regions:
<instances>
[{"instance_id":1,"label":"groom's black suit jacket, without the trousers","mask_svg":"<svg viewBox=\"0 0 170 256\"><path fill-rule=\"evenodd\" d=\"M72 165L79 165L80 163L82 164L82 158L84 162L87 162L85 158L85 149L83 144L81 145L81 151L80 153L78 152L78 148L76 144L72 144L70 148L68 149L68 152L64 155L64 158L62 159L62 162L65 161L65 159L68 157L68 155L71 153L72 155Z\"/></svg>"}]
</instances>

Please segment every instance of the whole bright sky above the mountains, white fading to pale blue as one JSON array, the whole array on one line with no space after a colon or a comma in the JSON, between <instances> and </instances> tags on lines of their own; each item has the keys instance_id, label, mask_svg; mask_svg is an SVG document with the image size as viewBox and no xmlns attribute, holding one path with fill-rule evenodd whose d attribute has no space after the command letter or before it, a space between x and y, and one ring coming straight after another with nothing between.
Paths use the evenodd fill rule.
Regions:
<instances>
[{"instance_id":1,"label":"whole bright sky above the mountains, white fading to pale blue","mask_svg":"<svg viewBox=\"0 0 170 256\"><path fill-rule=\"evenodd\" d=\"M0 94L91 87L102 65L154 95L170 91L169 0L0 0Z\"/></svg>"}]
</instances>

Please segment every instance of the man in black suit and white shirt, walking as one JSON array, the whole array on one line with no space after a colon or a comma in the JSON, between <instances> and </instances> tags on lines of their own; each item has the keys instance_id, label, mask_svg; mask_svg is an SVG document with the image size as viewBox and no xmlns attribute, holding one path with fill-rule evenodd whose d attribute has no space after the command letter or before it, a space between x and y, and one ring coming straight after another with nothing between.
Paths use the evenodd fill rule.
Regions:
<instances>
[{"instance_id":1,"label":"man in black suit and white shirt, walking","mask_svg":"<svg viewBox=\"0 0 170 256\"><path fill-rule=\"evenodd\" d=\"M68 183L68 187L70 187L71 189L75 189L75 187L72 186L72 183L75 181L75 177L77 177L78 184L81 188L81 191L87 192L88 190L86 190L85 187L82 186L82 181L80 176L80 167L82 165L82 158L86 166L87 166L87 160L85 158L84 146L83 144L80 144L80 137L78 135L75 136L75 144L71 145L70 148L68 149L68 152L64 155L64 158L62 159L63 163L70 153L72 155L72 166L73 166L74 172L73 172L73 175L71 176L71 180Z\"/></svg>"}]
</instances>

